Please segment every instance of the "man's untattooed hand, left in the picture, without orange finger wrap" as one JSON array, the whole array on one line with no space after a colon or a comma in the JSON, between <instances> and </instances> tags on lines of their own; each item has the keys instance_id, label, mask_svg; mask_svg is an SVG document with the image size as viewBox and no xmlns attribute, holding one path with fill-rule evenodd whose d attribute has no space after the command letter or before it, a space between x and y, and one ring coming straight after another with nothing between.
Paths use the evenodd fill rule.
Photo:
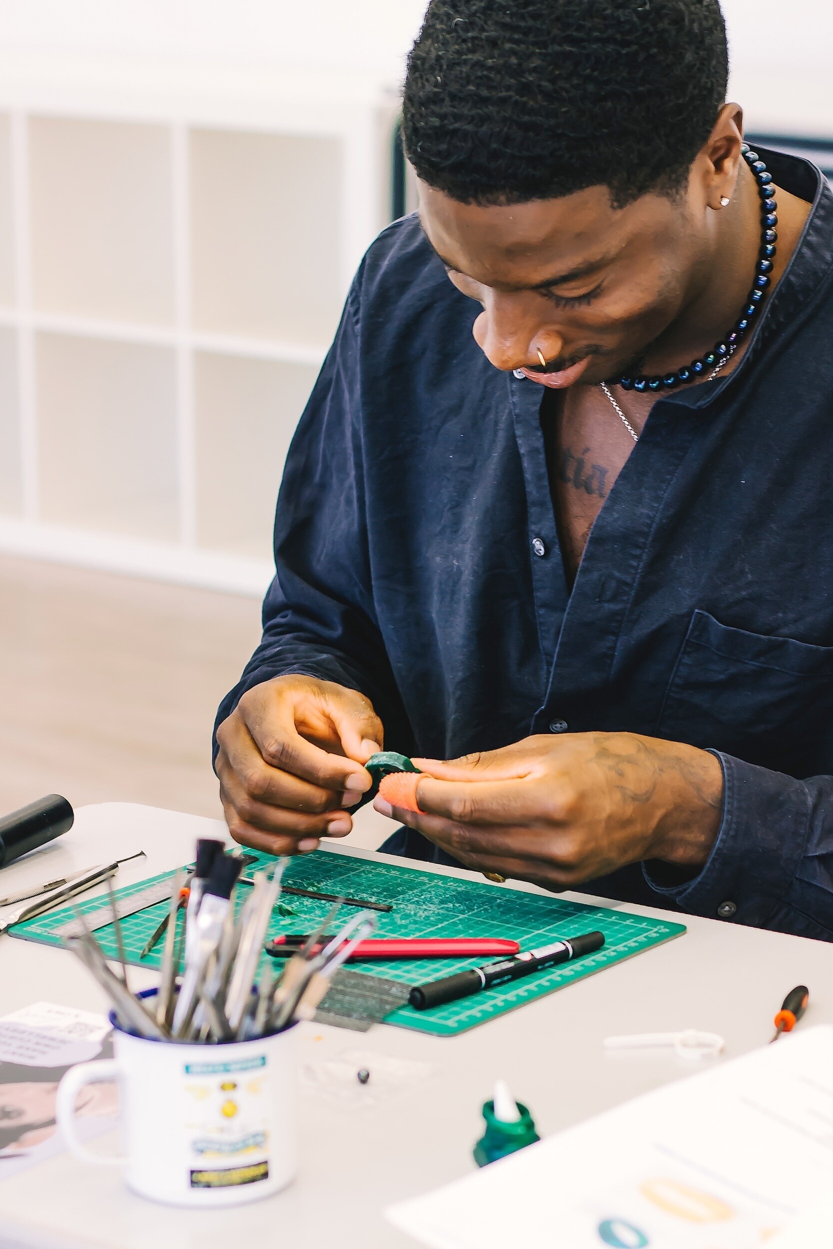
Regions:
<instances>
[{"instance_id":1,"label":"man's untattooed hand, left in the picture, without orange finger wrap","mask_svg":"<svg viewBox=\"0 0 833 1249\"><path fill-rule=\"evenodd\" d=\"M381 751L382 724L355 689L274 677L246 691L217 743L231 836L269 854L296 854L352 828L348 808L372 783L361 764Z\"/></svg>"}]
</instances>

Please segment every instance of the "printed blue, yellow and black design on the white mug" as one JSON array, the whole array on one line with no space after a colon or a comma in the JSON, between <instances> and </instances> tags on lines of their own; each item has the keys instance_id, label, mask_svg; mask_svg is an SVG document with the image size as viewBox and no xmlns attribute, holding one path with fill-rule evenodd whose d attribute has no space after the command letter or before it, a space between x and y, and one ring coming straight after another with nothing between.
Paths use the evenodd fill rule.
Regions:
<instances>
[{"instance_id":1,"label":"printed blue, yellow and black design on the white mug","mask_svg":"<svg viewBox=\"0 0 833 1249\"><path fill-rule=\"evenodd\" d=\"M182 1127L191 1188L269 1179L270 1079L266 1057L182 1068Z\"/></svg>"}]
</instances>

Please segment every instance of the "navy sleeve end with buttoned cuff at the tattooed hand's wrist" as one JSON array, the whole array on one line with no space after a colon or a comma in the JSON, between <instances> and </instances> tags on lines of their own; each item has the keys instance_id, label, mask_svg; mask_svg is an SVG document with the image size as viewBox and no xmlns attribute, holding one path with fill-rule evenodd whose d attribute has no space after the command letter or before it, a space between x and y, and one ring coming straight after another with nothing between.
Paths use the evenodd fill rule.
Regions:
<instances>
[{"instance_id":1,"label":"navy sleeve end with buttoned cuff at the tattooed hand's wrist","mask_svg":"<svg viewBox=\"0 0 833 1249\"><path fill-rule=\"evenodd\" d=\"M723 819L702 872L652 889L689 914L833 939L833 777L797 781L712 751Z\"/></svg>"}]
</instances>

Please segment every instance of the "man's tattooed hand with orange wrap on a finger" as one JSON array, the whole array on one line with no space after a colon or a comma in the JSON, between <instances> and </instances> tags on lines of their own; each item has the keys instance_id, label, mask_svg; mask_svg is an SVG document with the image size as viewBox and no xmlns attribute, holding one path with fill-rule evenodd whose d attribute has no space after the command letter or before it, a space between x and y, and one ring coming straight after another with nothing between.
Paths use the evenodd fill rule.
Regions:
<instances>
[{"instance_id":1,"label":"man's tattooed hand with orange wrap on a finger","mask_svg":"<svg viewBox=\"0 0 833 1249\"><path fill-rule=\"evenodd\" d=\"M721 764L681 742L569 733L450 763L413 762L426 773L417 786L420 813L381 797L377 811L466 867L548 889L643 859L696 869L721 827Z\"/></svg>"}]
</instances>

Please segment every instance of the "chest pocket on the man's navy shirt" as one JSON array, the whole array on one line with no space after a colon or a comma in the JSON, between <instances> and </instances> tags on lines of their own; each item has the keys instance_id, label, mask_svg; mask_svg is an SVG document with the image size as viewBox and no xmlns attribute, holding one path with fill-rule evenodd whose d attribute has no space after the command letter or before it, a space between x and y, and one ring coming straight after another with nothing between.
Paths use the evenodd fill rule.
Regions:
<instances>
[{"instance_id":1,"label":"chest pocket on the man's navy shirt","mask_svg":"<svg viewBox=\"0 0 833 1249\"><path fill-rule=\"evenodd\" d=\"M696 611L657 736L799 778L833 772L833 647L729 628Z\"/></svg>"}]
</instances>

